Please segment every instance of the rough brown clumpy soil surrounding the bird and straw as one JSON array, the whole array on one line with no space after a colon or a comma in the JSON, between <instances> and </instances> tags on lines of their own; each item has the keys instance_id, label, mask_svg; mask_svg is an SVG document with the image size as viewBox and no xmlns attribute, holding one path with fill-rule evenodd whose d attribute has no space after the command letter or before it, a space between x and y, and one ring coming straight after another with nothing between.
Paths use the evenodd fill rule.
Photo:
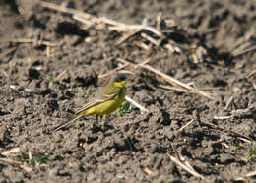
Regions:
<instances>
[{"instance_id":1,"label":"rough brown clumpy soil surrounding the bird and straw","mask_svg":"<svg viewBox=\"0 0 256 183\"><path fill-rule=\"evenodd\" d=\"M64 2L125 24L147 19L152 27L161 12L176 24L162 32L180 53L161 45L145 50L137 40L117 45L119 31L86 30L70 14L37 3L0 2L1 182L256 182L254 0ZM148 65L212 98L126 67L136 74L127 95L149 113L132 106L107 124L92 116L52 133L107 83L100 76L117 68L118 58L151 58Z\"/></svg>"}]
</instances>

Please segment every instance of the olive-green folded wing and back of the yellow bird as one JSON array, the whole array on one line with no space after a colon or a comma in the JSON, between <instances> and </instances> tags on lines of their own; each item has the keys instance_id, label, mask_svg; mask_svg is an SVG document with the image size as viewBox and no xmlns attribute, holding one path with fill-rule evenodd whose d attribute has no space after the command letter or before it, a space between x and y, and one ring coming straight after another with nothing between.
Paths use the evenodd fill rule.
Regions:
<instances>
[{"instance_id":1,"label":"olive-green folded wing and back of the yellow bird","mask_svg":"<svg viewBox=\"0 0 256 183\"><path fill-rule=\"evenodd\" d=\"M102 91L96 94L96 97L93 101L84 105L79 111L76 112L76 115L80 112L87 110L90 107L96 106L104 101L113 99L116 95L120 93L121 89L113 86L106 86Z\"/></svg>"}]
</instances>

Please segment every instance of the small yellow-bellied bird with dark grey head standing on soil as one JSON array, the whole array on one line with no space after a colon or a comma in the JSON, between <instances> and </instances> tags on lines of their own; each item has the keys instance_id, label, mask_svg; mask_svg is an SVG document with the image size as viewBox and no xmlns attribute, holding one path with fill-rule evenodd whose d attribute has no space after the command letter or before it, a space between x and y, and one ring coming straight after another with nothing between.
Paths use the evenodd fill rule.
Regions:
<instances>
[{"instance_id":1,"label":"small yellow-bellied bird with dark grey head standing on soil","mask_svg":"<svg viewBox=\"0 0 256 183\"><path fill-rule=\"evenodd\" d=\"M103 116L104 121L106 115L114 112L124 101L126 95L125 84L126 76L124 74L117 73L113 75L109 83L101 91L97 92L95 98L93 98L91 102L78 110L71 120L55 127L53 132L62 129L81 117L91 116L94 114L97 116Z\"/></svg>"}]
</instances>

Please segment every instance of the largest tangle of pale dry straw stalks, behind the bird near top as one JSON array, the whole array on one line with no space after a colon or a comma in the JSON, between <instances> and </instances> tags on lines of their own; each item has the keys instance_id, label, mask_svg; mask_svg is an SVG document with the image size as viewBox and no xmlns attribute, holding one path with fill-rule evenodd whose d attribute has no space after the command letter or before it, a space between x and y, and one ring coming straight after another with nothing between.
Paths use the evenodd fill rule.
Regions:
<instances>
[{"instance_id":1,"label":"largest tangle of pale dry straw stalks, behind the bird near top","mask_svg":"<svg viewBox=\"0 0 256 183\"><path fill-rule=\"evenodd\" d=\"M53 3L41 2L40 5L44 8L49 8L52 10L57 10L63 13L71 14L73 19L85 24L84 29L89 30L91 28L95 29L105 29L116 30L119 32L124 32L125 34L117 41L117 45L122 44L138 32L141 32L141 36L157 47L160 46L160 43L165 39L165 35L160 31L160 23L162 21L162 15L159 13L157 17L157 28L147 25L147 21L142 25L127 25L114 21L106 17L96 17L91 14L81 12L75 9L66 8L65 6L55 5ZM173 21L173 20L172 20ZM150 35L150 33L155 35L155 38ZM151 46L148 46L144 42L137 43L139 47L142 47L145 50L149 50ZM181 49L177 46L173 46L170 43L164 45L171 53L178 52L181 53Z\"/></svg>"}]
</instances>

